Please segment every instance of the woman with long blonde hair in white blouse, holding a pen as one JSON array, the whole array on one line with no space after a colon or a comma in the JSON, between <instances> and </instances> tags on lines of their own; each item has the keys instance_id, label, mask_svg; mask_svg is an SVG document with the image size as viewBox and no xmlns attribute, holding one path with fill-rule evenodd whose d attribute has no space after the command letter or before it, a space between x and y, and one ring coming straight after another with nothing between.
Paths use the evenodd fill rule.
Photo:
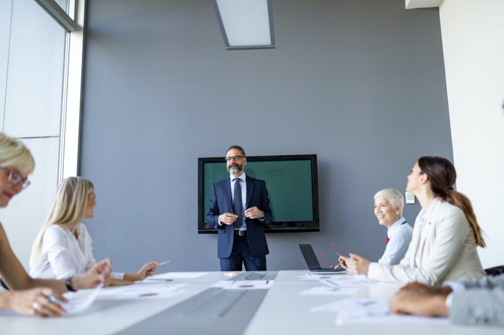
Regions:
<instances>
[{"instance_id":1,"label":"woman with long blonde hair in white blouse, holding a pen","mask_svg":"<svg viewBox=\"0 0 504 335\"><path fill-rule=\"evenodd\" d=\"M76 276L92 268L91 236L83 219L93 218L96 206L93 184L82 177L69 177L59 185L51 211L42 225L30 257L30 276L58 279ZM145 264L136 273L112 273L110 285L128 285L152 276L157 262Z\"/></svg>"}]
</instances>

